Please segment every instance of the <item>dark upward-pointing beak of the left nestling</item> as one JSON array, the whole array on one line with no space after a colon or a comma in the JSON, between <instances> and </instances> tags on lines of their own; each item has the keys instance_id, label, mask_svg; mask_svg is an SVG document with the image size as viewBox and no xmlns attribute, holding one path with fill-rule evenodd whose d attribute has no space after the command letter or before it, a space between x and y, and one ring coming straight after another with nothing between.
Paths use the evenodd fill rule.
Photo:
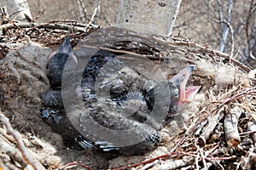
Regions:
<instances>
[{"instance_id":1,"label":"dark upward-pointing beak of the left nestling","mask_svg":"<svg viewBox=\"0 0 256 170\"><path fill-rule=\"evenodd\" d=\"M61 47L57 49L53 54L49 55L49 59L51 59L55 54L62 53L62 54L68 54L71 55L73 60L78 63L78 59L73 54L72 46L69 37L66 37L64 42L62 42Z\"/></svg>"}]
</instances>

